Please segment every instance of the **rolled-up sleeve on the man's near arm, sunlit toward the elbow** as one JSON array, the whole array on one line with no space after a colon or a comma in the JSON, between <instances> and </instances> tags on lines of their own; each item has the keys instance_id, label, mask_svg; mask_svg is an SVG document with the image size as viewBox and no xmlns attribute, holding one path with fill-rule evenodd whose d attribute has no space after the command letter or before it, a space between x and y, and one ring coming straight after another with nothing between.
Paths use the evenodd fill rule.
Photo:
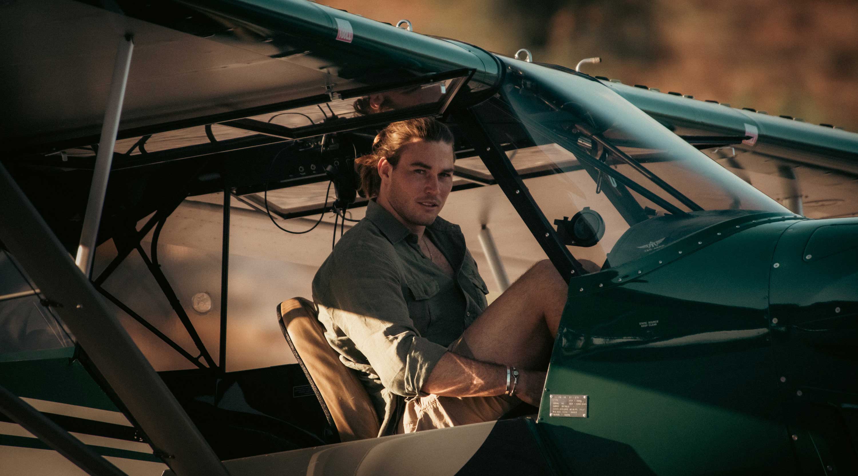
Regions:
<instances>
[{"instance_id":1,"label":"rolled-up sleeve on the man's near arm, sunlit toward the elbow","mask_svg":"<svg viewBox=\"0 0 858 476\"><path fill-rule=\"evenodd\" d=\"M324 288L313 282L320 313L352 341L386 389L404 397L427 395L420 389L447 349L414 328L395 263L374 246L337 251L329 267L337 275L324 279Z\"/></svg>"}]
</instances>

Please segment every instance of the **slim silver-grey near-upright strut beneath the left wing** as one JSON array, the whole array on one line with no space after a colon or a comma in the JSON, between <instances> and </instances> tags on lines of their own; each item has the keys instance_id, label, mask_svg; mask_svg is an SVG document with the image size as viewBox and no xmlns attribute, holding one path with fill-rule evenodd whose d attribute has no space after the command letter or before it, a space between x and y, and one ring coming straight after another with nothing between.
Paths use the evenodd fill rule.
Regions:
<instances>
[{"instance_id":1,"label":"slim silver-grey near-upright strut beneath the left wing","mask_svg":"<svg viewBox=\"0 0 858 476\"><path fill-rule=\"evenodd\" d=\"M87 214L83 217L81 244L77 246L75 262L83 274L89 277L93 266L96 238L99 235L101 210L104 208L107 192L107 179L113 162L113 148L116 146L116 135L119 130L119 117L122 115L122 103L125 98L125 85L128 83L128 69L131 65L131 51L134 51L134 39L126 33L119 42L116 52L116 63L113 64L113 78L110 93L107 95L105 120L101 124L99 152L95 157L93 184L89 188Z\"/></svg>"}]
</instances>

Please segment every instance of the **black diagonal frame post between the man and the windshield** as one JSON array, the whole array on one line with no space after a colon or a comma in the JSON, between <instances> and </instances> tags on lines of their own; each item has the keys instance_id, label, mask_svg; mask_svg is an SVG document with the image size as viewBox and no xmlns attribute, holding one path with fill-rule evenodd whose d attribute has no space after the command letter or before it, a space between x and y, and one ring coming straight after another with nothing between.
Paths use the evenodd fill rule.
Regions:
<instances>
[{"instance_id":1,"label":"black diagonal frame post between the man and the windshield","mask_svg":"<svg viewBox=\"0 0 858 476\"><path fill-rule=\"evenodd\" d=\"M523 179L507 158L504 149L495 144L491 136L486 133L473 108L468 107L464 110L454 111L452 117L468 136L474 151L480 155L483 164L492 174L500 189L504 190L507 199L516 208L518 215L533 233L542 250L546 252L548 259L559 271L560 276L569 282L572 277L587 274L587 271L575 259L575 256L572 256L569 249L560 240L557 232L554 231L553 226L542 214L539 205L530 195Z\"/></svg>"}]
</instances>

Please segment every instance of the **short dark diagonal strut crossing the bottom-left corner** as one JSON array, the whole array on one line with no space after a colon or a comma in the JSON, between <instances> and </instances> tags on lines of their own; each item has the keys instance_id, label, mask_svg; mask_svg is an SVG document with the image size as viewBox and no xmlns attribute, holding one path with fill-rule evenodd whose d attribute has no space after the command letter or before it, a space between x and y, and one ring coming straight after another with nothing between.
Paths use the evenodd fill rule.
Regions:
<instances>
[{"instance_id":1,"label":"short dark diagonal strut crossing the bottom-left corner","mask_svg":"<svg viewBox=\"0 0 858 476\"><path fill-rule=\"evenodd\" d=\"M84 472L93 476L128 476L2 385L0 410Z\"/></svg>"}]
</instances>

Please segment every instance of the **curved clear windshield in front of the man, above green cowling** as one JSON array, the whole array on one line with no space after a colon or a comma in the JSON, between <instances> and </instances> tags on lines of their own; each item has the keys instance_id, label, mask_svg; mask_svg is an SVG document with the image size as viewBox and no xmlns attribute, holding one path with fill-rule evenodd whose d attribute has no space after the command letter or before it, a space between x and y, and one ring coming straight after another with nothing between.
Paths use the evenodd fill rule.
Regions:
<instances>
[{"instance_id":1,"label":"curved clear windshield in front of the man, above green cowling","mask_svg":"<svg viewBox=\"0 0 858 476\"><path fill-rule=\"evenodd\" d=\"M501 60L480 121L589 271L738 215L791 214L600 82ZM456 169L487 174L477 158Z\"/></svg>"}]
</instances>

